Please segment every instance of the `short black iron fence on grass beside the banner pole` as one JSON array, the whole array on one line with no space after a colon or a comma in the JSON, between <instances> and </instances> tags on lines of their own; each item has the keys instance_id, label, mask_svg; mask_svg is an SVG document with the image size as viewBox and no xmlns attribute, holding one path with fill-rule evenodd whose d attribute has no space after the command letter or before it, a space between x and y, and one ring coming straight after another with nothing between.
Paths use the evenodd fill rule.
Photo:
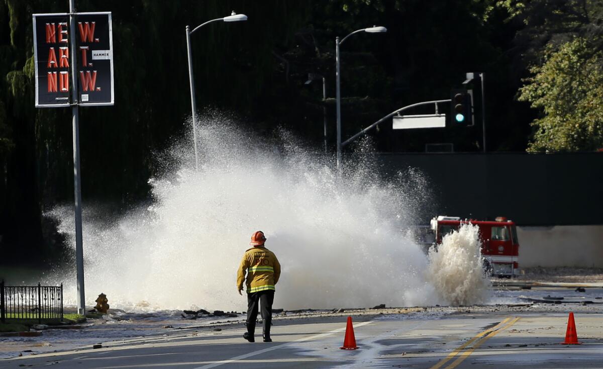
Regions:
<instances>
[{"instance_id":1,"label":"short black iron fence on grass beside the banner pole","mask_svg":"<svg viewBox=\"0 0 603 369\"><path fill-rule=\"evenodd\" d=\"M63 283L60 286L5 286L0 282L0 320L63 320Z\"/></svg>"}]
</instances>

